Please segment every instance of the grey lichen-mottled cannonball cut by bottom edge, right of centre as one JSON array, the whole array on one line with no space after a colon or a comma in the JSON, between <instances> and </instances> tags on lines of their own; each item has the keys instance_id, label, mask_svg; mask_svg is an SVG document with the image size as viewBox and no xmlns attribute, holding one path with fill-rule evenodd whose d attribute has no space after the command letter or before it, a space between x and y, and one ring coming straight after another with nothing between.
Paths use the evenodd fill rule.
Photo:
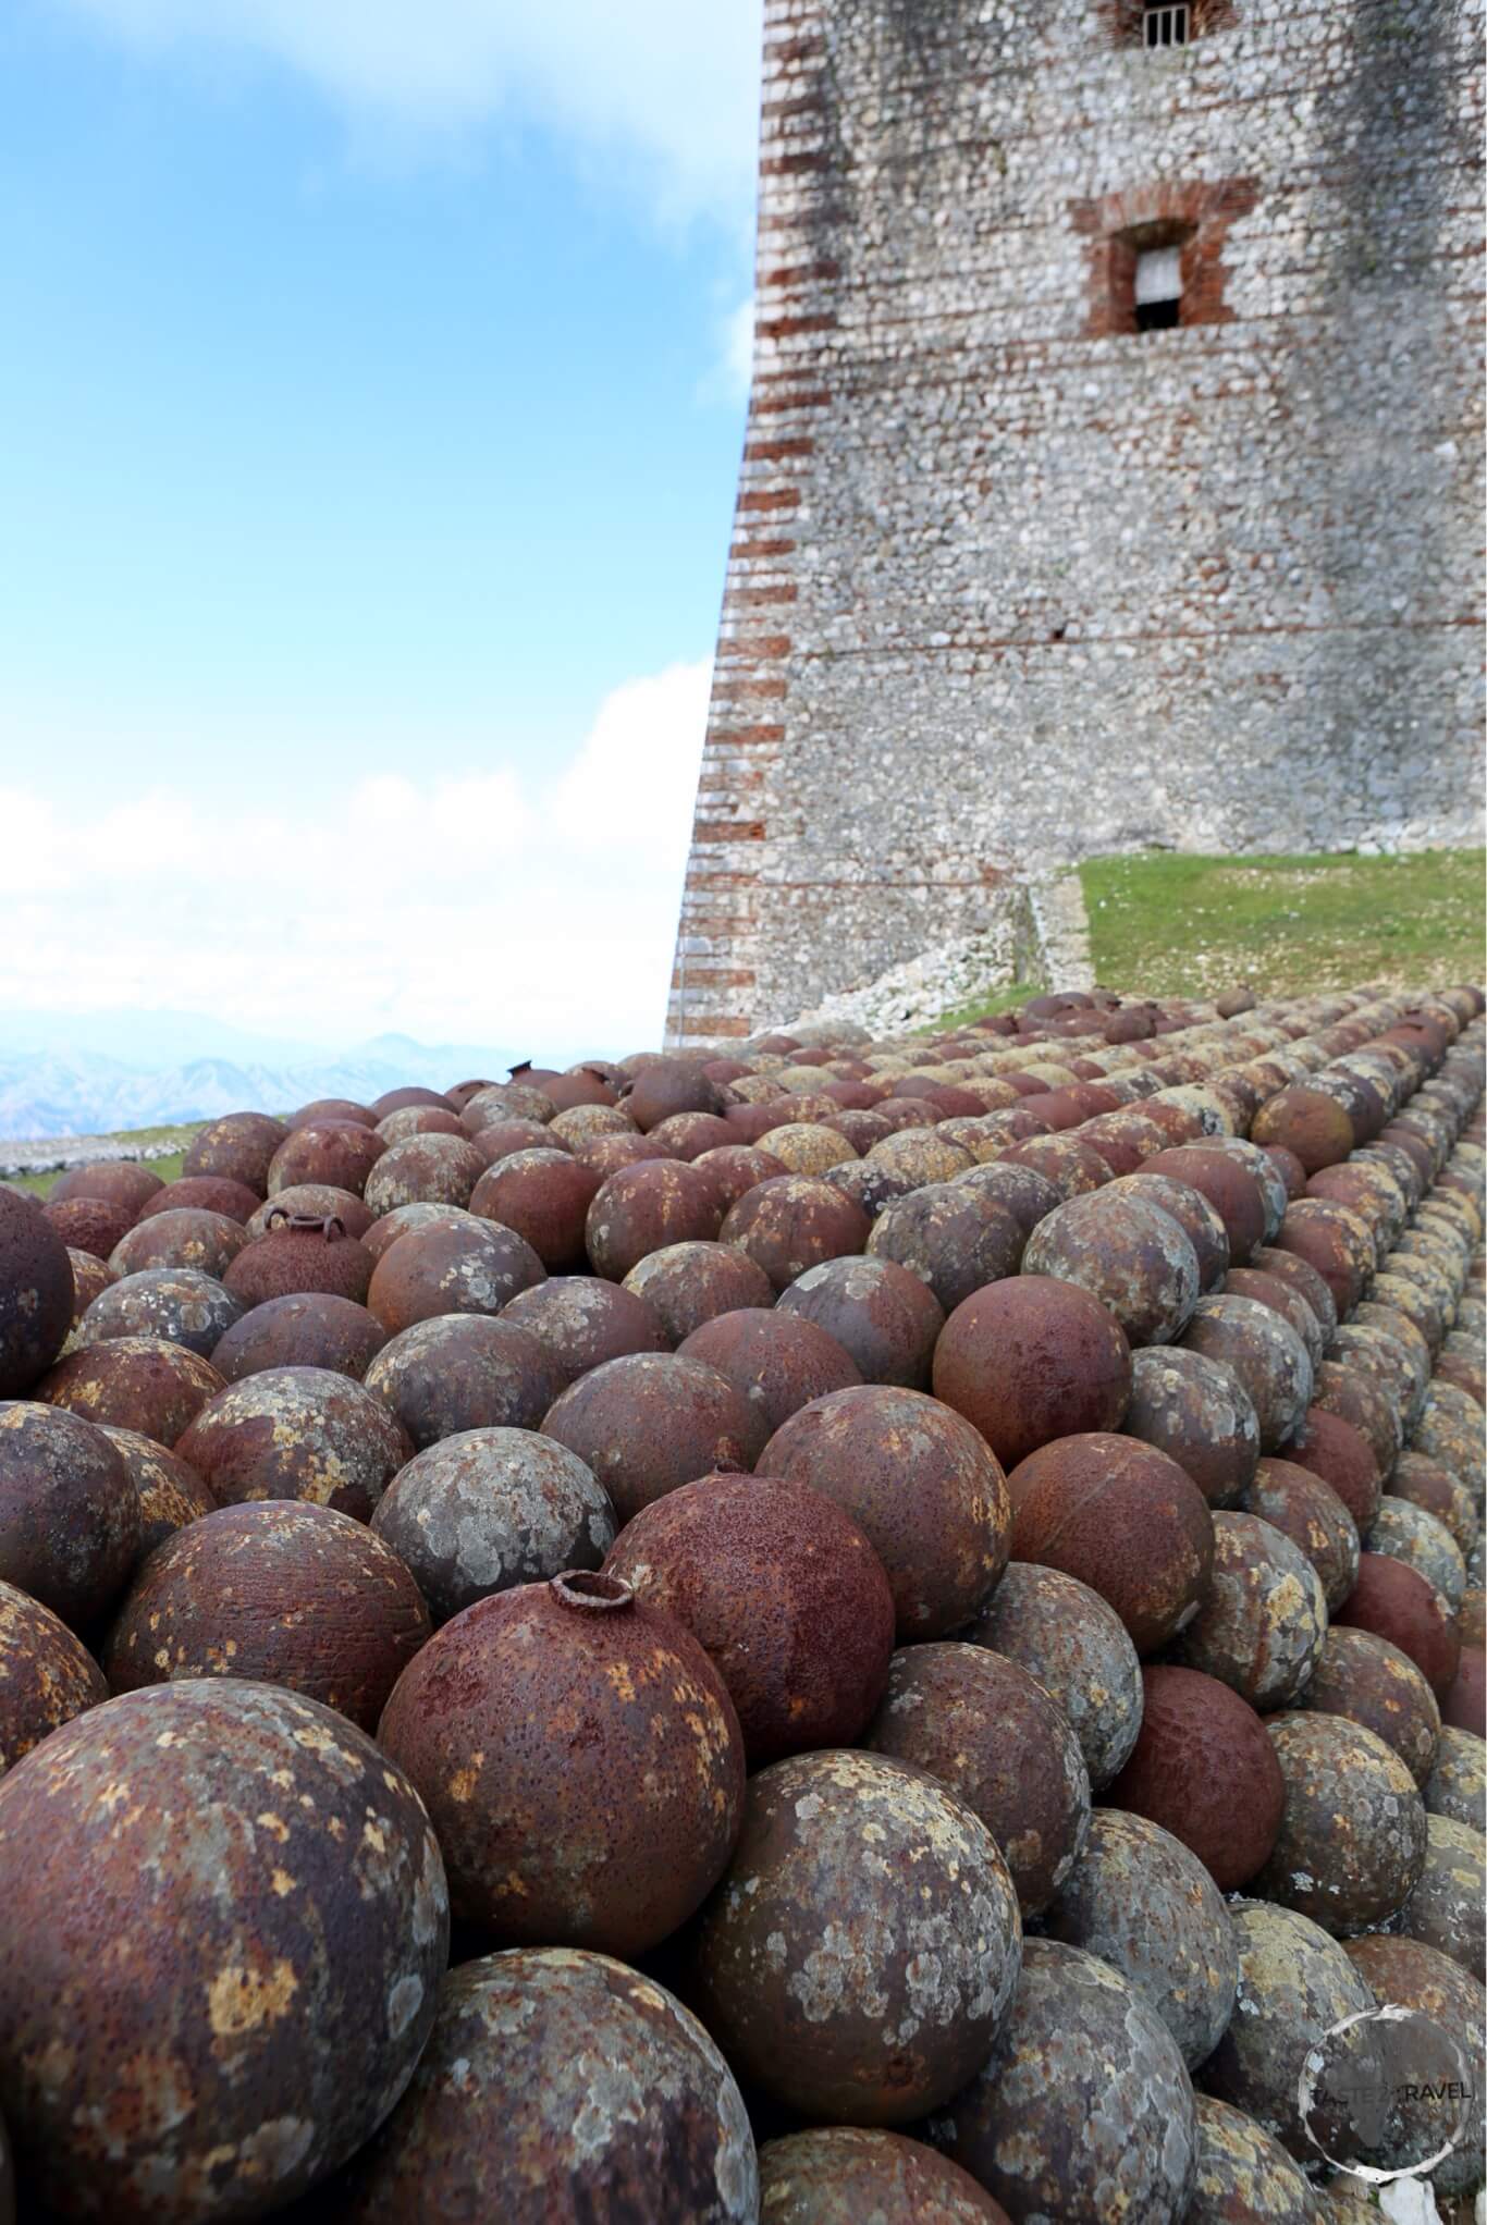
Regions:
<instances>
[{"instance_id":1,"label":"grey lichen-mottled cannonball cut by bottom edge, right of centre","mask_svg":"<svg viewBox=\"0 0 1487 2225\"><path fill-rule=\"evenodd\" d=\"M1026 1940L991 2056L928 2132L1008 2216L1060 2225L1178 2225L1198 2167L1178 2043L1120 1971L1064 1940Z\"/></svg>"}]
</instances>

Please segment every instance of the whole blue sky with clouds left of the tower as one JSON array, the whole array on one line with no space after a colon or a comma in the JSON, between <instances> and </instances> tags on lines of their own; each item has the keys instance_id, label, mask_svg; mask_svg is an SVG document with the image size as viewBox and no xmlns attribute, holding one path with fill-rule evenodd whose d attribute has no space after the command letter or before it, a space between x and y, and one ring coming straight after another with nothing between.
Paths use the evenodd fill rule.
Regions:
<instances>
[{"instance_id":1,"label":"whole blue sky with clouds left of the tower","mask_svg":"<svg viewBox=\"0 0 1487 2225\"><path fill-rule=\"evenodd\" d=\"M659 1035L755 85L755 0L0 13L0 1041Z\"/></svg>"}]
</instances>

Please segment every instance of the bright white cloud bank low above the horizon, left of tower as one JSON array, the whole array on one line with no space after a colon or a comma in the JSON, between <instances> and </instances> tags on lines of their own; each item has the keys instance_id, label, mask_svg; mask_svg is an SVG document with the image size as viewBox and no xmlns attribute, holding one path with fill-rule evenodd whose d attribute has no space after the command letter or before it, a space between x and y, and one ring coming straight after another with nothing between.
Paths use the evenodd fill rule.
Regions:
<instances>
[{"instance_id":1,"label":"bright white cloud bank low above the horizon, left of tower","mask_svg":"<svg viewBox=\"0 0 1487 2225\"><path fill-rule=\"evenodd\" d=\"M169 1006L327 1050L659 1044L708 679L614 688L548 783L376 772L336 821L0 788L0 1012Z\"/></svg>"}]
</instances>

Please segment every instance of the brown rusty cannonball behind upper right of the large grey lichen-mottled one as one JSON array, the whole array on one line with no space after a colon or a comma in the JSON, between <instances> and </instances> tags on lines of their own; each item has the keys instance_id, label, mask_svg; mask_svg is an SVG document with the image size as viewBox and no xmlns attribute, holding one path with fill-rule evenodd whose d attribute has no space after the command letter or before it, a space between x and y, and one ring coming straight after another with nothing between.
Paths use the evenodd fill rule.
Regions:
<instances>
[{"instance_id":1,"label":"brown rusty cannonball behind upper right of the large grey lichen-mottled one","mask_svg":"<svg viewBox=\"0 0 1487 2225\"><path fill-rule=\"evenodd\" d=\"M928 1769L973 1809L1040 1916L1080 1860L1091 1787L1069 1718L1017 1662L977 1644L902 1646L864 1747Z\"/></svg>"}]
</instances>

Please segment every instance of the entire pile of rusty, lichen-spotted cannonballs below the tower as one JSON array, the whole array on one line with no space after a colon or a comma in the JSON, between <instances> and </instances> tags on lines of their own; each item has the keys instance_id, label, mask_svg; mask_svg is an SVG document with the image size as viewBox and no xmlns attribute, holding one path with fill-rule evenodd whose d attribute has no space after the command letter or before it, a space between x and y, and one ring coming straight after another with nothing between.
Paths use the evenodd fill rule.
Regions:
<instances>
[{"instance_id":1,"label":"entire pile of rusty, lichen-spotted cannonballs below the tower","mask_svg":"<svg viewBox=\"0 0 1487 2225\"><path fill-rule=\"evenodd\" d=\"M1485 1041L1055 995L0 1190L0 2218L1469 2196Z\"/></svg>"}]
</instances>

